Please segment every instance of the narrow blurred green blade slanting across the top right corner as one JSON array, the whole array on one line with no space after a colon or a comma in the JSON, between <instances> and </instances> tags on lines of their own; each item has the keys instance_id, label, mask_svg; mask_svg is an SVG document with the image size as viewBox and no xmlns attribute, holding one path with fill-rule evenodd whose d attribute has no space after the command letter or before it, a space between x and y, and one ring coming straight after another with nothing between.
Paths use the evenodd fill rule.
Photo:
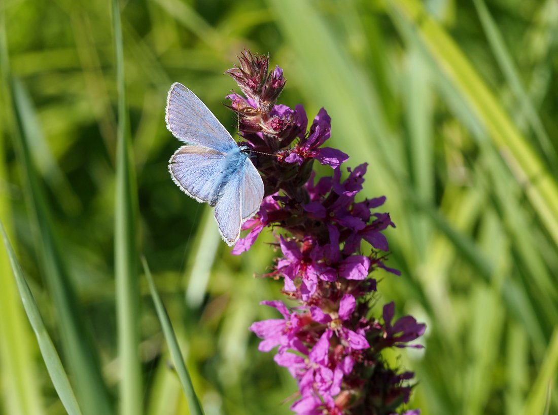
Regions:
<instances>
[{"instance_id":1,"label":"narrow blurred green blade slanting across the top right corner","mask_svg":"<svg viewBox=\"0 0 558 415\"><path fill-rule=\"evenodd\" d=\"M500 65L508 85L516 95L519 106L521 107L526 119L531 124L533 132L538 139L538 143L542 150L539 154L547 159L547 162L550 163L549 165L556 166L556 150L552 146L549 135L546 133L545 127L542 124L535 107L523 87L521 78L519 77L519 71L513 64L513 59L508 52L508 48L506 47L506 43L504 43L496 22L494 22L494 19L490 16L490 12L484 3L484 0L474 0L473 4L479 14L480 23L482 23L484 33L487 36L489 45L494 53L494 57L496 57L498 65Z\"/></svg>"}]
</instances>

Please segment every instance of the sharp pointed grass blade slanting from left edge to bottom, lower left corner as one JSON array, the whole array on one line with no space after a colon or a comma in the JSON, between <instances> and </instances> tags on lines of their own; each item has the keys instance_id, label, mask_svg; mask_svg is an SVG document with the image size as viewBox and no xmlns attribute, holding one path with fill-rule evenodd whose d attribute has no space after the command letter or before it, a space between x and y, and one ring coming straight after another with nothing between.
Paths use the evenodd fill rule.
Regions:
<instances>
[{"instance_id":1,"label":"sharp pointed grass blade slanting from left edge to bottom, lower left corner","mask_svg":"<svg viewBox=\"0 0 558 415\"><path fill-rule=\"evenodd\" d=\"M60 401L64 405L64 408L70 415L81 415L81 411L78 406L78 401L74 396L74 391L71 388L70 381L68 380L68 375L62 366L60 357L56 352L56 348L50 339L49 333L46 330L45 324L42 321L41 314L39 313L39 308L31 294L31 290L25 281L23 276L23 271L21 270L20 263L17 261L16 253L13 252L11 243L9 243L8 236L4 230L4 226L0 223L0 230L2 231L2 238L4 241L4 247L8 253L9 261L12 265L12 272L16 278L17 287L20 291L21 300L23 302L23 307L25 307L25 312L33 331L35 331L35 336L37 337L37 342L39 343L39 348L41 349L42 358L45 362L46 369L49 371L52 384L60 397Z\"/></svg>"}]
</instances>

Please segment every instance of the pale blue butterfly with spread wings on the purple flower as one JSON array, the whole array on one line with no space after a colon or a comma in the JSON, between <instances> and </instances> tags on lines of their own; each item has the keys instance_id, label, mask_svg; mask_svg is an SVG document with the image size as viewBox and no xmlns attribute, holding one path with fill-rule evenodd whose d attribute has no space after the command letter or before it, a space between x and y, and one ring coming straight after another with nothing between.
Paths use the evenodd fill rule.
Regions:
<instances>
[{"instance_id":1,"label":"pale blue butterfly with spread wings on the purple flower","mask_svg":"<svg viewBox=\"0 0 558 415\"><path fill-rule=\"evenodd\" d=\"M172 84L167 128L183 145L169 160L172 180L182 192L215 207L219 233L229 246L242 224L259 210L263 182L246 154L194 92Z\"/></svg>"}]
</instances>

